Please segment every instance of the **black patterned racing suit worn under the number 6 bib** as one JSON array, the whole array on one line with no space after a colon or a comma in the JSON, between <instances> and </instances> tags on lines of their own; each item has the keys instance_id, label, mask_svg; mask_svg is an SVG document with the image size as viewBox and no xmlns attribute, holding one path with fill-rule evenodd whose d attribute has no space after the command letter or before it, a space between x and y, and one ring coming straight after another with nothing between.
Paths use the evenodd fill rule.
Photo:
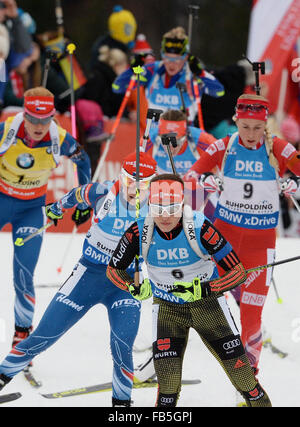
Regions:
<instances>
[{"instance_id":1,"label":"black patterned racing suit worn under the number 6 bib","mask_svg":"<svg viewBox=\"0 0 300 427\"><path fill-rule=\"evenodd\" d=\"M162 238L172 240L182 231L182 223L169 233L158 228L157 231ZM201 243L212 256L220 253L227 244L226 239L208 220L204 221L200 236ZM107 270L110 280L124 290L127 289L126 283L133 282L125 270L139 253L139 231L137 223L134 223L121 238ZM229 253L227 251L227 255L219 259L218 265L227 272L220 278L226 290L228 282L232 284L231 287L241 283L238 273L229 276L230 272L241 266L233 250ZM153 304L153 321L156 322L157 333L153 342L153 358L159 384L156 406L176 406L190 328L197 331L234 387L242 393L248 406L271 406L267 393L250 367L221 288L215 294L191 303L176 304L154 297Z\"/></svg>"}]
</instances>

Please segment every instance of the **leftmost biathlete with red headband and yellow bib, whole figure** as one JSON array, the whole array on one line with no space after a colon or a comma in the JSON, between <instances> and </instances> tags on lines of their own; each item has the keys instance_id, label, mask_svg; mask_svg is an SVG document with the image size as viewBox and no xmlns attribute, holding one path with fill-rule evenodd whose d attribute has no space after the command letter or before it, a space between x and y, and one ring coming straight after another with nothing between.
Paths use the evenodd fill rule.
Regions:
<instances>
[{"instance_id":1,"label":"leftmost biathlete with red headband and yellow bib, whole figure","mask_svg":"<svg viewBox=\"0 0 300 427\"><path fill-rule=\"evenodd\" d=\"M54 115L54 95L43 87L36 87L24 94L24 112L0 123L0 229L11 224L14 241L25 238L45 224L47 184L61 156L70 158L77 165L79 184L87 184L91 179L88 155L66 130L56 124ZM42 241L43 233L24 247L14 246L13 346L26 338L32 329L33 275Z\"/></svg>"}]
</instances>

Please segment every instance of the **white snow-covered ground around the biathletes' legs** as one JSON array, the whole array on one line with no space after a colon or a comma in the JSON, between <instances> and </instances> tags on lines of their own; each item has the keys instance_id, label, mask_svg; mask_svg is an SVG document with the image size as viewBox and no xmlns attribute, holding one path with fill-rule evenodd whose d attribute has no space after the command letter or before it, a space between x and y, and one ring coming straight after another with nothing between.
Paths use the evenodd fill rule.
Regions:
<instances>
[{"instance_id":1,"label":"white snow-covered ground around the biathletes' legs","mask_svg":"<svg viewBox=\"0 0 300 427\"><path fill-rule=\"evenodd\" d=\"M48 233L45 236L41 257L35 274L37 309L34 324L37 325L56 290L41 287L60 284L68 277L81 254L84 235L74 237L63 271L57 267L70 235ZM10 233L0 233L2 280L0 287L0 360L10 350L13 335L12 241ZM299 239L278 239L277 260L300 255ZM271 288L264 309L263 321L272 335L273 344L288 353L279 358L269 349L261 357L259 379L268 392L273 406L300 407L300 261L275 268L275 282L282 304L277 302ZM238 312L231 297L228 303L238 322ZM151 302L143 303L143 312L136 347L142 348L151 341ZM139 363L144 353L135 353ZM111 393L48 400L40 393L56 392L111 381L112 361L109 349L109 325L106 309L98 305L63 336L47 352L34 359L33 372L43 383L33 389L19 374L1 394L19 391L22 398L5 406L19 407L110 407ZM201 384L183 386L179 407L230 407L236 402L236 393L215 359L208 353L196 333L191 331L187 347L185 379L200 378ZM153 407L156 389L133 391L134 406Z\"/></svg>"}]
</instances>

